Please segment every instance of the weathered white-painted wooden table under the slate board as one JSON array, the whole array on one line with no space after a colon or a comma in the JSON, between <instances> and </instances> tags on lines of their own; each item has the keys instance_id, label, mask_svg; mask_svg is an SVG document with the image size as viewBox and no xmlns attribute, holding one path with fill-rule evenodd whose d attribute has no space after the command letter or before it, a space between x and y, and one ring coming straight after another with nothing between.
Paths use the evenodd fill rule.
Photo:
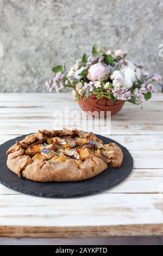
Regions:
<instances>
[{"instance_id":1,"label":"weathered white-painted wooden table under the slate board","mask_svg":"<svg viewBox=\"0 0 163 256\"><path fill-rule=\"evenodd\" d=\"M52 129L54 109L80 109L71 94L0 94L0 144ZM134 158L133 173L94 196L48 199L0 185L1 237L163 235L163 94L141 109L126 103L111 135Z\"/></svg>"}]
</instances>

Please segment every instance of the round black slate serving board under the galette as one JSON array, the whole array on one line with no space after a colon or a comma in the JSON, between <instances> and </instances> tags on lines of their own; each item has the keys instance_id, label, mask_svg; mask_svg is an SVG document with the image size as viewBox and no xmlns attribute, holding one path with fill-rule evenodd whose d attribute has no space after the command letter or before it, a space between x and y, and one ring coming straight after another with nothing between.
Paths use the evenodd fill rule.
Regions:
<instances>
[{"instance_id":1,"label":"round black slate serving board under the galette","mask_svg":"<svg viewBox=\"0 0 163 256\"><path fill-rule=\"evenodd\" d=\"M115 142L112 139L96 135L105 144ZM35 182L23 178L18 178L15 173L12 173L7 167L6 151L14 145L16 141L21 141L26 135L11 139L0 146L0 182L4 186L12 190L30 194L39 197L51 198L68 198L77 196L87 196L95 194L110 187L113 187L127 178L133 169L133 158L129 151L121 144L115 142L123 151L123 162L120 168L108 168L97 176L74 182Z\"/></svg>"}]
</instances>

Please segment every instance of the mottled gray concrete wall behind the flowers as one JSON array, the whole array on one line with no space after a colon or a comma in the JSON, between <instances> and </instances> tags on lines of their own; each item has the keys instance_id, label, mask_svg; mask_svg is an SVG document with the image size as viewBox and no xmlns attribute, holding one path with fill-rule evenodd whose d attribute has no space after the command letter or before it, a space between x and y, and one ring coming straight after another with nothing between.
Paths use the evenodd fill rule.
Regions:
<instances>
[{"instance_id":1,"label":"mottled gray concrete wall behind the flowers","mask_svg":"<svg viewBox=\"0 0 163 256\"><path fill-rule=\"evenodd\" d=\"M95 42L163 75L162 14L162 0L0 0L0 92L46 92L53 65L68 68Z\"/></svg>"}]
</instances>

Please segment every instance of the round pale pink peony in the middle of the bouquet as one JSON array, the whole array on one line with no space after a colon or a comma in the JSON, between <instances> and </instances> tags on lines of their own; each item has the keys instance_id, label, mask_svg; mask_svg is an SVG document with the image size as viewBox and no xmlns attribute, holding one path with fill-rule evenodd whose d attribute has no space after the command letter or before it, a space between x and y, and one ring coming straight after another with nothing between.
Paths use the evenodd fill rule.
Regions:
<instances>
[{"instance_id":1,"label":"round pale pink peony in the middle of the bouquet","mask_svg":"<svg viewBox=\"0 0 163 256\"><path fill-rule=\"evenodd\" d=\"M96 63L90 66L90 69L87 73L87 78L90 81L105 81L109 77L109 68L104 63Z\"/></svg>"}]
</instances>

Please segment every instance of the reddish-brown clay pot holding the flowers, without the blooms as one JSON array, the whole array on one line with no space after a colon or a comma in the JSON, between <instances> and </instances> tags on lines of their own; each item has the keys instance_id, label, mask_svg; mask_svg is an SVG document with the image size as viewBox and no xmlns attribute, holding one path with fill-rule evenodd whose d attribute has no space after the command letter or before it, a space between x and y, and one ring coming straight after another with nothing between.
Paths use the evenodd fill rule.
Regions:
<instances>
[{"instance_id":1,"label":"reddish-brown clay pot holding the flowers, without the blooms","mask_svg":"<svg viewBox=\"0 0 163 256\"><path fill-rule=\"evenodd\" d=\"M103 97L102 99L97 99L96 95L91 95L86 100L78 100L78 103L83 111L97 111L98 113L100 111L104 111L105 116L107 111L111 111L111 115L117 114L124 104L122 100L116 100L112 102L105 97Z\"/></svg>"}]
</instances>

